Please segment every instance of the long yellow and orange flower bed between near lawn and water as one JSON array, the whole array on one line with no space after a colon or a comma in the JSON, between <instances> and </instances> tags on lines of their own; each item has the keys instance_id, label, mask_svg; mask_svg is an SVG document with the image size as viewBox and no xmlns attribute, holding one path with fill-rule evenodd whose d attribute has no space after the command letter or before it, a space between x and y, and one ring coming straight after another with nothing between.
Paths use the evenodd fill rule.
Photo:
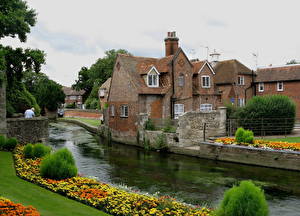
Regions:
<instances>
[{"instance_id":1,"label":"long yellow and orange flower bed between near lawn and water","mask_svg":"<svg viewBox=\"0 0 300 216\"><path fill-rule=\"evenodd\" d=\"M210 209L182 204L170 197L130 193L85 177L59 181L42 178L39 172L41 160L25 159L22 146L16 148L14 158L16 172L21 178L112 215L209 216L211 213Z\"/></svg>"}]
</instances>

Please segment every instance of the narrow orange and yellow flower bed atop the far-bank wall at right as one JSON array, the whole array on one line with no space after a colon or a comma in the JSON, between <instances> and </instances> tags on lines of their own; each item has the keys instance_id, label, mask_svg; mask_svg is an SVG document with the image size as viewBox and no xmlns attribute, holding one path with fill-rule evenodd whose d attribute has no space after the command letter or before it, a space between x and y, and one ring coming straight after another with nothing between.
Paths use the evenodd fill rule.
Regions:
<instances>
[{"instance_id":1,"label":"narrow orange and yellow flower bed atop the far-bank wall at right","mask_svg":"<svg viewBox=\"0 0 300 216\"><path fill-rule=\"evenodd\" d=\"M288 142L280 142L280 141L267 141L267 140L254 140L253 144L242 143L238 144L235 138L218 138L215 142L223 143L223 144L235 144L235 145L245 145L245 146L254 146L257 148L270 148L276 150L292 150L292 151L300 151L300 143L288 143Z\"/></svg>"}]
</instances>

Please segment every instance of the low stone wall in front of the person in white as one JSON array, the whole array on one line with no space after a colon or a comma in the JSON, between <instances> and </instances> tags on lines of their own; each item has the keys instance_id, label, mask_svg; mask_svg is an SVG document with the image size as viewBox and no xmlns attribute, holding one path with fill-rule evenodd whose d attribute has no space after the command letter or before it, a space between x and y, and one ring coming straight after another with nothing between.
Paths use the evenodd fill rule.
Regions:
<instances>
[{"instance_id":1,"label":"low stone wall in front of the person in white","mask_svg":"<svg viewBox=\"0 0 300 216\"><path fill-rule=\"evenodd\" d=\"M16 137L22 144L45 142L49 136L48 125L49 120L44 117L8 118L7 137Z\"/></svg>"}]
</instances>

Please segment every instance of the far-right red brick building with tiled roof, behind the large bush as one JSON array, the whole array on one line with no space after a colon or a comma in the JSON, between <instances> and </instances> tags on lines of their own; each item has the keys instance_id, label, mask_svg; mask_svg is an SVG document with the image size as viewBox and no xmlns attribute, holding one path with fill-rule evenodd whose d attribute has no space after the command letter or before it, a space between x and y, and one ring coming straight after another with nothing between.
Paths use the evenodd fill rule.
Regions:
<instances>
[{"instance_id":1,"label":"far-right red brick building with tiled roof, behind the large bush","mask_svg":"<svg viewBox=\"0 0 300 216\"><path fill-rule=\"evenodd\" d=\"M287 95L295 101L300 118L300 64L259 68L256 73L256 95Z\"/></svg>"}]
</instances>

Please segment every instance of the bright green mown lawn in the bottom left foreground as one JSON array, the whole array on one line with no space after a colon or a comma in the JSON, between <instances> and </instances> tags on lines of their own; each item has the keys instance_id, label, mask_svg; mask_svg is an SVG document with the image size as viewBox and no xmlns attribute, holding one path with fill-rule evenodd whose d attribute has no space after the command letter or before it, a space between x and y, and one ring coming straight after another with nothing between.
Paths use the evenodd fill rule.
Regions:
<instances>
[{"instance_id":1,"label":"bright green mown lawn in the bottom left foreground","mask_svg":"<svg viewBox=\"0 0 300 216\"><path fill-rule=\"evenodd\" d=\"M42 216L108 215L20 179L15 174L12 154L9 152L0 152L0 196L25 206L32 205Z\"/></svg>"}]
</instances>

